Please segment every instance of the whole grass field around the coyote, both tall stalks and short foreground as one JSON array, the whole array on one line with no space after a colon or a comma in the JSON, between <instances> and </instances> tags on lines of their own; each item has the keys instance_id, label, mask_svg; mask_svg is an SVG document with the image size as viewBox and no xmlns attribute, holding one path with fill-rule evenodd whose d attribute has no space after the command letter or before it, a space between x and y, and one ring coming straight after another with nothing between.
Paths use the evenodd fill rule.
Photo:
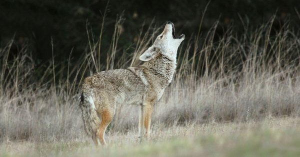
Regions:
<instances>
[{"instance_id":1,"label":"whole grass field around the coyote, both tall stalks and short foreground","mask_svg":"<svg viewBox=\"0 0 300 157\"><path fill-rule=\"evenodd\" d=\"M245 24L241 35L228 28L221 37L216 23L207 34L186 38L174 80L154 107L151 138L138 143L137 107L120 105L106 132L108 146L99 148L82 126L82 79L139 64L159 29L142 29L136 44L120 49L117 20L105 63L97 57L101 37L89 31L90 44L75 65L53 56L36 66L26 48L9 59L10 42L0 48L0 156L297 157L300 34L288 23L272 31L273 20L258 28Z\"/></svg>"}]
</instances>

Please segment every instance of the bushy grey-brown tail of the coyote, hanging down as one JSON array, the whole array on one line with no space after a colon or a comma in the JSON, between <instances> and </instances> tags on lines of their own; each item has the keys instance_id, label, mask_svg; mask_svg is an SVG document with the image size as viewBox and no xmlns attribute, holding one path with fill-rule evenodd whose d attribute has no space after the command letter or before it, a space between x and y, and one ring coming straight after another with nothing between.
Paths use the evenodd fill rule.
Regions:
<instances>
[{"instance_id":1,"label":"bushy grey-brown tail of the coyote, hanging down","mask_svg":"<svg viewBox=\"0 0 300 157\"><path fill-rule=\"evenodd\" d=\"M93 103L90 92L82 91L79 105L82 111L82 120L86 134L92 137L96 135L100 126L100 119Z\"/></svg>"}]
</instances>

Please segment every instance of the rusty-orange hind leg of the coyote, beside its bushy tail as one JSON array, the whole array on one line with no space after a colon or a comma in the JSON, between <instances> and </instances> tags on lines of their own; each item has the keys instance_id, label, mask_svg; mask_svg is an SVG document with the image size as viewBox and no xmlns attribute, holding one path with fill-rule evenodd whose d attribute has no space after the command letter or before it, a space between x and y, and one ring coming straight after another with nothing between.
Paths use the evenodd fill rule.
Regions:
<instances>
[{"instance_id":1,"label":"rusty-orange hind leg of the coyote, beside its bushy tail","mask_svg":"<svg viewBox=\"0 0 300 157\"><path fill-rule=\"evenodd\" d=\"M100 114L101 114L101 124L100 124L100 128L98 129L98 138L102 145L106 145L104 135L105 135L106 128L111 122L114 113L113 110L104 109L100 112Z\"/></svg>"}]
</instances>

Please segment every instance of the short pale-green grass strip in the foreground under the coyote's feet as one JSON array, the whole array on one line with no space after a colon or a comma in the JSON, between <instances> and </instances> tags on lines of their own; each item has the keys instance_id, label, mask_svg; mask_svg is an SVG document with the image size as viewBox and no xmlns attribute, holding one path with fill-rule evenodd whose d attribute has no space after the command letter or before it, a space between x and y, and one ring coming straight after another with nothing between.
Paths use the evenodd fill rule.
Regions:
<instances>
[{"instance_id":1,"label":"short pale-green grass strip in the foreground under the coyote's feet","mask_svg":"<svg viewBox=\"0 0 300 157\"><path fill-rule=\"evenodd\" d=\"M259 122L157 127L139 144L136 131L108 133L107 147L85 140L4 142L0 156L57 157L298 157L300 119L268 118Z\"/></svg>"}]
</instances>

